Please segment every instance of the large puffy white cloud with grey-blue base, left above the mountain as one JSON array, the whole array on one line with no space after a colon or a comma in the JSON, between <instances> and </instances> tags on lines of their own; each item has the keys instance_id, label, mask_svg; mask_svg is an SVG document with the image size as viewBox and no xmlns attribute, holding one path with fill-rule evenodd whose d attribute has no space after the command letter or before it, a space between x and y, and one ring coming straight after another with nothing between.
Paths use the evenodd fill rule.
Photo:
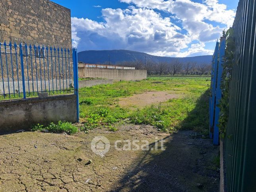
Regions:
<instances>
[{"instance_id":1,"label":"large puffy white cloud with grey-blue base, left above the mountain","mask_svg":"<svg viewBox=\"0 0 256 192\"><path fill-rule=\"evenodd\" d=\"M72 17L73 46L80 50L106 47L168 54L186 48L190 42L169 17L163 18L153 10L107 8L102 16L104 23ZM103 40L106 45L102 45Z\"/></svg>"}]
</instances>

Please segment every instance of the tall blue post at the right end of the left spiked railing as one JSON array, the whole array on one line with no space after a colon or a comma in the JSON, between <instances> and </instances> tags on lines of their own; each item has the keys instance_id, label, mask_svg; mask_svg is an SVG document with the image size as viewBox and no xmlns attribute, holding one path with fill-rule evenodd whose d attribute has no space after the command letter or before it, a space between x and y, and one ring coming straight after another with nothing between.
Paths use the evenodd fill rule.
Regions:
<instances>
[{"instance_id":1,"label":"tall blue post at the right end of the left spiked railing","mask_svg":"<svg viewBox=\"0 0 256 192\"><path fill-rule=\"evenodd\" d=\"M76 121L79 122L79 95L78 95L78 51L72 49L73 55L73 72L74 72L74 93L76 95Z\"/></svg>"}]
</instances>

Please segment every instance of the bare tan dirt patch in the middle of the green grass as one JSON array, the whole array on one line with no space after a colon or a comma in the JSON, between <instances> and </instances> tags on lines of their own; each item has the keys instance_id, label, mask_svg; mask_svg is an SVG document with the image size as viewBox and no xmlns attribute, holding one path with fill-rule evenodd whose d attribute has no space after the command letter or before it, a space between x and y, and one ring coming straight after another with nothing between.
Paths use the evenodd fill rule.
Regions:
<instances>
[{"instance_id":1,"label":"bare tan dirt patch in the middle of the green grass","mask_svg":"<svg viewBox=\"0 0 256 192\"><path fill-rule=\"evenodd\" d=\"M170 91L149 91L119 99L118 104L124 108L141 108L146 105L156 104L182 97L181 94L170 93Z\"/></svg>"}]
</instances>

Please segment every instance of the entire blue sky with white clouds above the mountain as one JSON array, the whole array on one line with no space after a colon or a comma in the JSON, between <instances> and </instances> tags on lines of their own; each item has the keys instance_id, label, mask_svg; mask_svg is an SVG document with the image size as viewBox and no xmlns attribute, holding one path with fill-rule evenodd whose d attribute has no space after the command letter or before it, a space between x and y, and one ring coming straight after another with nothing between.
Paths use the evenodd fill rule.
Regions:
<instances>
[{"instance_id":1,"label":"entire blue sky with white clouds above the mountain","mask_svg":"<svg viewBox=\"0 0 256 192\"><path fill-rule=\"evenodd\" d=\"M72 46L157 56L211 55L239 0L52 0L71 10Z\"/></svg>"}]
</instances>

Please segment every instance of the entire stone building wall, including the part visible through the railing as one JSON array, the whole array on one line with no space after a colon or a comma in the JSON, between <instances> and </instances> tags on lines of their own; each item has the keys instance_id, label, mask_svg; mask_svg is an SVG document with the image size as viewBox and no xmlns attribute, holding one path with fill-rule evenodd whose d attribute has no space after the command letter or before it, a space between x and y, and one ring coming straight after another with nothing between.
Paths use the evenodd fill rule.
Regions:
<instances>
[{"instance_id":1,"label":"entire stone building wall, including the part visible through the railing","mask_svg":"<svg viewBox=\"0 0 256 192\"><path fill-rule=\"evenodd\" d=\"M51 81L54 79L55 82L56 79L73 79L71 17L69 9L49 0L0 0L0 15L1 43L6 41L9 44L11 41L12 44L16 42L17 44L23 43L24 45L27 43L27 45L32 45L31 51L29 48L27 49L27 56L24 56L25 49L23 50L25 81L31 82L38 78L40 89L41 79L42 83L44 83L44 80ZM48 57L47 50L45 50L44 57L42 55L39 57L37 53L35 55L33 45L48 46ZM70 49L70 54L68 56L68 51L66 51L65 58L64 49L63 55L61 50L59 50L59 54L57 50L55 53L52 50L52 58L50 58L50 46L52 48L56 47L56 49L58 47ZM0 94L4 88L10 88L11 92L14 92L12 90L18 89L17 85L21 81L19 47L15 50L14 46L12 46L12 57L10 56L10 47L7 45L6 48L7 54L5 54L4 46L1 45L2 66L0 65L0 72L1 70L3 71L3 76L0 73L0 82L4 79L5 84L0 85ZM14 76L12 76L12 71ZM9 84L6 83L8 80ZM32 83L30 84L32 85ZM57 83L54 83L54 86ZM69 86L68 84L64 88Z\"/></svg>"}]
</instances>

